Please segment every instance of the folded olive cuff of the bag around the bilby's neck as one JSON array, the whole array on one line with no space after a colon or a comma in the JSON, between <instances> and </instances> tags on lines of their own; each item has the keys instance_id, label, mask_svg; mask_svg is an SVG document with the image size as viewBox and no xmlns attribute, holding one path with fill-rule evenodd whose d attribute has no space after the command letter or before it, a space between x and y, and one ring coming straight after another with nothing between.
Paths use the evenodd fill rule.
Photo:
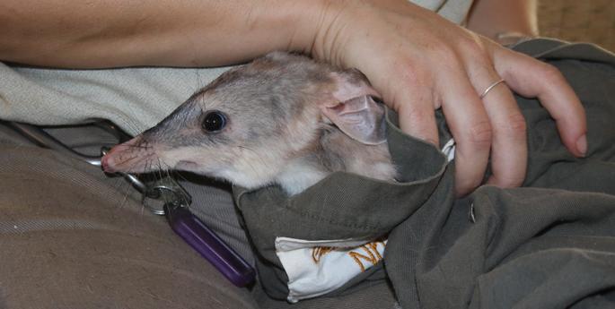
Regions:
<instances>
[{"instance_id":1,"label":"folded olive cuff of the bag around the bilby's neck","mask_svg":"<svg viewBox=\"0 0 615 309\"><path fill-rule=\"evenodd\" d=\"M261 283L269 296L286 299L289 295L289 279L276 253L278 237L343 240L341 246L385 238L429 198L436 186L442 185L448 163L444 154L401 133L396 121L395 113L387 110L388 141L399 170L398 182L338 172L290 197L278 186L256 191L234 188L235 201L259 256ZM361 271L338 292L378 271L379 265Z\"/></svg>"}]
</instances>

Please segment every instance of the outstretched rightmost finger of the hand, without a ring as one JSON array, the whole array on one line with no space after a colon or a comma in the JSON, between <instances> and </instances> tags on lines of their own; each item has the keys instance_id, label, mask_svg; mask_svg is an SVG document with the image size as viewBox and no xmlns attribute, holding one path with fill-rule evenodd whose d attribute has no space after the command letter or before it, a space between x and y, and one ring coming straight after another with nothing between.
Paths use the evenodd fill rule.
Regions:
<instances>
[{"instance_id":1,"label":"outstretched rightmost finger of the hand, without a ring","mask_svg":"<svg viewBox=\"0 0 615 309\"><path fill-rule=\"evenodd\" d=\"M576 157L587 152L585 109L564 75L550 65L521 53L497 48L496 71L524 97L538 98L555 119L562 142Z\"/></svg>"}]
</instances>

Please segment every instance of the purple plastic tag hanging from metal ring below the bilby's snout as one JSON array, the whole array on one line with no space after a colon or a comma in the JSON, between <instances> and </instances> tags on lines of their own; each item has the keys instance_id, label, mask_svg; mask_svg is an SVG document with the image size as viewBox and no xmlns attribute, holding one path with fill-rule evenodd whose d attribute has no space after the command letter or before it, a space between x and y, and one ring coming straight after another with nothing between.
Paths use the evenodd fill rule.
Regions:
<instances>
[{"instance_id":1,"label":"purple plastic tag hanging from metal ring below the bilby's snout","mask_svg":"<svg viewBox=\"0 0 615 309\"><path fill-rule=\"evenodd\" d=\"M255 271L250 264L189 210L167 203L164 205L164 213L173 231L235 286L242 288L254 281Z\"/></svg>"}]
</instances>

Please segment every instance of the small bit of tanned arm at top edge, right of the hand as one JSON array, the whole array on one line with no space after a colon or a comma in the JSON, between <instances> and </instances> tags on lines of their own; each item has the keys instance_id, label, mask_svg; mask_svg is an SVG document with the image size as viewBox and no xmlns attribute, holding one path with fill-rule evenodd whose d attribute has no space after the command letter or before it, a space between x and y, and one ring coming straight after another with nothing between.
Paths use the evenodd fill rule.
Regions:
<instances>
[{"instance_id":1,"label":"small bit of tanned arm at top edge, right of the hand","mask_svg":"<svg viewBox=\"0 0 615 309\"><path fill-rule=\"evenodd\" d=\"M509 31L536 36L536 0L476 0L467 27L490 39Z\"/></svg>"}]
</instances>

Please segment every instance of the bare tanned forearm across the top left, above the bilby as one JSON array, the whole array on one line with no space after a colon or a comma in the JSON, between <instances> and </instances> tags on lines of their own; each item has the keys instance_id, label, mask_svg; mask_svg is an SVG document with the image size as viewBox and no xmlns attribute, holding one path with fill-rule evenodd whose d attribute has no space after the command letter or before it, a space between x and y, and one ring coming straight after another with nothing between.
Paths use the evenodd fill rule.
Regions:
<instances>
[{"instance_id":1,"label":"bare tanned forearm across the top left, above the bilby","mask_svg":"<svg viewBox=\"0 0 615 309\"><path fill-rule=\"evenodd\" d=\"M4 0L0 60L83 68L233 64L275 49L309 49L321 3Z\"/></svg>"}]
</instances>

